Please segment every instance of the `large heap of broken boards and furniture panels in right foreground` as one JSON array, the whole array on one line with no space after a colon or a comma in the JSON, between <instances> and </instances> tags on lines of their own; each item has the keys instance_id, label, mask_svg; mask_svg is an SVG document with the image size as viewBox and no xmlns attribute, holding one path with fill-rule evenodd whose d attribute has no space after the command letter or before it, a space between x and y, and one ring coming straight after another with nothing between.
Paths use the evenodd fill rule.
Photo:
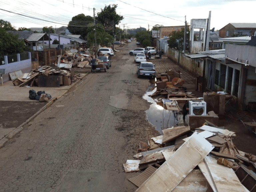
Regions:
<instances>
[{"instance_id":1,"label":"large heap of broken boards and furniture panels in right foreground","mask_svg":"<svg viewBox=\"0 0 256 192\"><path fill-rule=\"evenodd\" d=\"M256 187L256 156L239 151L235 133L212 123L163 130L163 135L139 144L142 152L127 160L125 172L136 191L247 192Z\"/></svg>"}]
</instances>

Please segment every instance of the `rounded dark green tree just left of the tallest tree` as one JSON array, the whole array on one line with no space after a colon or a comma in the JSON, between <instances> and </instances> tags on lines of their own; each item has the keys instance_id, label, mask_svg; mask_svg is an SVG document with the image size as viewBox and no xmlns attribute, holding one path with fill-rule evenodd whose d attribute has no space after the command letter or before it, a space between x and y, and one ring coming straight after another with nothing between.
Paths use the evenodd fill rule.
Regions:
<instances>
[{"instance_id":1,"label":"rounded dark green tree just left of the tallest tree","mask_svg":"<svg viewBox=\"0 0 256 192\"><path fill-rule=\"evenodd\" d=\"M72 17L69 21L67 29L70 33L75 35L81 35L83 38L89 33L88 27L94 26L93 18L91 16L85 16L83 13Z\"/></svg>"}]
</instances>

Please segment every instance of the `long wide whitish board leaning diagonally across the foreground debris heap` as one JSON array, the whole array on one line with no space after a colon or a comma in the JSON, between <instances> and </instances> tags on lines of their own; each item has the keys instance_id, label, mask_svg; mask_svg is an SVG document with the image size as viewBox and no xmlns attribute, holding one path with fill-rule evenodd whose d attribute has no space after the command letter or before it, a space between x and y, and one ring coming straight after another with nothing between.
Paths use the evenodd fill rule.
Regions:
<instances>
[{"instance_id":1,"label":"long wide whitish board leaning diagonally across the foreground debris heap","mask_svg":"<svg viewBox=\"0 0 256 192\"><path fill-rule=\"evenodd\" d=\"M136 192L172 191L213 148L194 133Z\"/></svg>"}]
</instances>

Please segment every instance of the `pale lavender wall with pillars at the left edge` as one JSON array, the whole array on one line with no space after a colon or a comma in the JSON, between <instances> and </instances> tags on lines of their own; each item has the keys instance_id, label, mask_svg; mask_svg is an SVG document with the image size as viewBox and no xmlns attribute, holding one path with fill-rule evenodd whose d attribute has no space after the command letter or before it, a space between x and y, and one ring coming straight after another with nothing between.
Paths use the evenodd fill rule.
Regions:
<instances>
[{"instance_id":1,"label":"pale lavender wall with pillars at the left edge","mask_svg":"<svg viewBox=\"0 0 256 192\"><path fill-rule=\"evenodd\" d=\"M20 61L20 59L18 58L18 61L13 63L8 63L7 56L5 56L5 64L0 65L1 69L5 69L5 74L3 75L3 82L11 80L9 76L9 73L11 72L21 70L22 73L28 73L31 71L31 53L28 52L28 54L29 54L29 59ZM19 54L17 54L17 57L18 56Z\"/></svg>"}]
</instances>

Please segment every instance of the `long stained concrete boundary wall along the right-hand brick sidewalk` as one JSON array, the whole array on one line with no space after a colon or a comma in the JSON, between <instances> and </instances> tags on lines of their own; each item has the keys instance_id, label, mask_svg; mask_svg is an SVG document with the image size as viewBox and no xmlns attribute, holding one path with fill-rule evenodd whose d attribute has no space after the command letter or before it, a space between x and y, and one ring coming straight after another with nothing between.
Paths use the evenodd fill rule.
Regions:
<instances>
[{"instance_id":1,"label":"long stained concrete boundary wall along the right-hand brick sidewalk","mask_svg":"<svg viewBox=\"0 0 256 192\"><path fill-rule=\"evenodd\" d=\"M180 55L180 56L179 56ZM168 48L168 59L174 61L177 65L185 69L194 77L203 76L203 60L191 59L175 49ZM199 65L198 65L199 62Z\"/></svg>"}]
</instances>

